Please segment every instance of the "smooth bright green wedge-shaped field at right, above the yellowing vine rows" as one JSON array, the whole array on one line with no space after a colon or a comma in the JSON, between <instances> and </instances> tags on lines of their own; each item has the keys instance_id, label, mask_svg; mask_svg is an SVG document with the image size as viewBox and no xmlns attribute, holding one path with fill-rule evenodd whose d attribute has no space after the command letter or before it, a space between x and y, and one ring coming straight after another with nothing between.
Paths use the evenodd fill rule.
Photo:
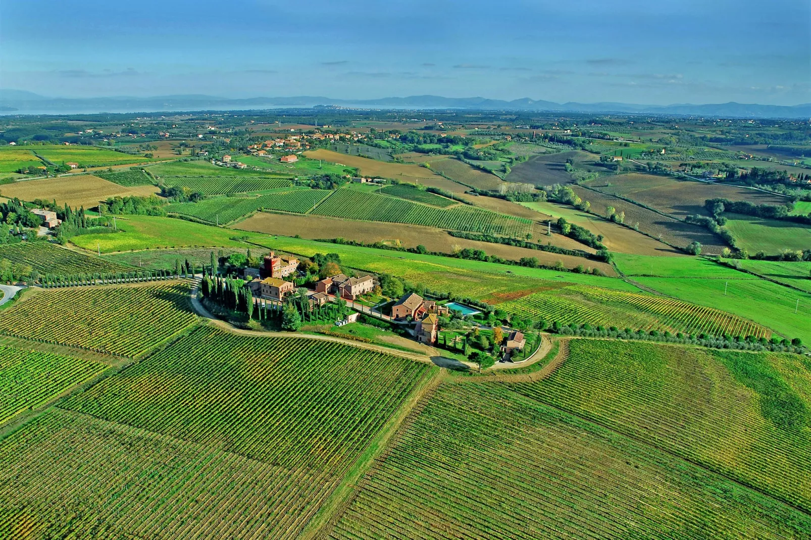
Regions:
<instances>
[{"instance_id":1,"label":"smooth bright green wedge-shaped field at right, above the yellowing vine rows","mask_svg":"<svg viewBox=\"0 0 811 540\"><path fill-rule=\"evenodd\" d=\"M634 278L650 289L753 320L789 338L811 341L811 294L766 280L702 280L680 277ZM727 294L723 294L724 286ZM797 302L799 300L799 303ZM795 313L795 309L797 312Z\"/></svg>"}]
</instances>

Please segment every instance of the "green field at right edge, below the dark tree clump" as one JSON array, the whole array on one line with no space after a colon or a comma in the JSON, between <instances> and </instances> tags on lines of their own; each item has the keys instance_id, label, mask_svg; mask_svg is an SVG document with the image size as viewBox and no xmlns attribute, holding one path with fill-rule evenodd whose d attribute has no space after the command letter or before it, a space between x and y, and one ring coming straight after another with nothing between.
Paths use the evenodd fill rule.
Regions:
<instances>
[{"instance_id":1,"label":"green field at right edge, below the dark tree clump","mask_svg":"<svg viewBox=\"0 0 811 540\"><path fill-rule=\"evenodd\" d=\"M732 213L724 216L729 219L727 229L749 255L757 251L777 255L783 249L811 250L811 225Z\"/></svg>"}]
</instances>

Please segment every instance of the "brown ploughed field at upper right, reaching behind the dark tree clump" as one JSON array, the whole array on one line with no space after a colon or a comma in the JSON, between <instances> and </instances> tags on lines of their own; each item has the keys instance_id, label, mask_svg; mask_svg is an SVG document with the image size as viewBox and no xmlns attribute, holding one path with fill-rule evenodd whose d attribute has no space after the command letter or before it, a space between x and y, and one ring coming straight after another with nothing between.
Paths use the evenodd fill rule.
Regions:
<instances>
[{"instance_id":1,"label":"brown ploughed field at upper right, reaching behind the dark tree clump","mask_svg":"<svg viewBox=\"0 0 811 540\"><path fill-rule=\"evenodd\" d=\"M607 183L611 186L606 186ZM654 174L607 176L591 180L587 185L612 195L628 197L682 219L690 214L709 216L704 208L706 199L747 200L753 204L785 204L788 200L740 186L677 180Z\"/></svg>"}]
</instances>

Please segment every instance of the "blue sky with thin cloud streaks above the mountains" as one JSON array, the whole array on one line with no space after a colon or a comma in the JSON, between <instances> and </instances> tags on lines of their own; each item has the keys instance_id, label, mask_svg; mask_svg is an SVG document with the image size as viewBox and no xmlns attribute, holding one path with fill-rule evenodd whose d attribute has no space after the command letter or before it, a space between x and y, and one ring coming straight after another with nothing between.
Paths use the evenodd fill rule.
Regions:
<instances>
[{"instance_id":1,"label":"blue sky with thin cloud streaks above the mountains","mask_svg":"<svg viewBox=\"0 0 811 540\"><path fill-rule=\"evenodd\" d=\"M0 0L0 88L811 102L808 0Z\"/></svg>"}]
</instances>

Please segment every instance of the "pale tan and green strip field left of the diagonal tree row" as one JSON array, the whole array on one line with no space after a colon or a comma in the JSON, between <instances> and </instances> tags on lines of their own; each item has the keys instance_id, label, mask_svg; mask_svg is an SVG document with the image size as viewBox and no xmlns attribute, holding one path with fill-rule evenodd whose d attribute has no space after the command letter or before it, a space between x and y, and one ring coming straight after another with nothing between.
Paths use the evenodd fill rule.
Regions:
<instances>
[{"instance_id":1,"label":"pale tan and green strip field left of the diagonal tree row","mask_svg":"<svg viewBox=\"0 0 811 540\"><path fill-rule=\"evenodd\" d=\"M521 203L521 205L537 210L544 215L554 216L556 219L564 217L567 221L585 227L594 234L602 234L603 244L610 251L639 255L682 255L680 251L676 251L674 248L653 238L648 238L644 234L639 234L622 225L616 225L616 223L605 221L574 208L554 203Z\"/></svg>"}]
</instances>

